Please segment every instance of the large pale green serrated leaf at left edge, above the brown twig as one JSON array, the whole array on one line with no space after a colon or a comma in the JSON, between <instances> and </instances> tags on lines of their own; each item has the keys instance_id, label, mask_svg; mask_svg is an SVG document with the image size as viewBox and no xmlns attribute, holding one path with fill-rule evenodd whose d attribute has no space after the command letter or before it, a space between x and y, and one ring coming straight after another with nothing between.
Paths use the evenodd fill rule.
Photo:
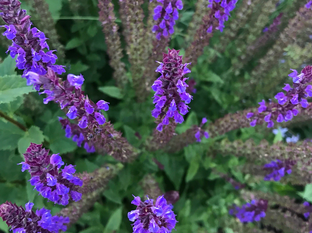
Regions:
<instances>
[{"instance_id":1,"label":"large pale green serrated leaf at left edge, above the brown twig","mask_svg":"<svg viewBox=\"0 0 312 233\"><path fill-rule=\"evenodd\" d=\"M26 86L25 80L20 75L0 76L0 103L16 100L18 96L34 92L31 86Z\"/></svg>"}]
</instances>

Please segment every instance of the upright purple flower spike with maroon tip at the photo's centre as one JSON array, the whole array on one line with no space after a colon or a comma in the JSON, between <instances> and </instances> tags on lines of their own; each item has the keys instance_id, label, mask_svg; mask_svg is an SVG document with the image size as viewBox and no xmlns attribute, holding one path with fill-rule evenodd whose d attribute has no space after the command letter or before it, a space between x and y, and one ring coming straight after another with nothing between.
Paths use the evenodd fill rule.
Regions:
<instances>
[{"instance_id":1,"label":"upright purple flower spike with maroon tip at the photo's centre","mask_svg":"<svg viewBox=\"0 0 312 233\"><path fill-rule=\"evenodd\" d=\"M152 85L154 94L155 109L152 116L160 117L162 122L156 129L163 130L163 125L169 124L169 118L174 118L176 123L184 121L183 116L188 113L186 104L191 102L192 96L186 92L188 85L184 74L191 71L186 67L190 63L182 64L182 56L179 56L180 50L168 49L168 54L163 54L163 62L155 70L160 72L161 76ZM179 113L180 112L180 113ZM182 115L181 115L182 114Z\"/></svg>"}]
</instances>

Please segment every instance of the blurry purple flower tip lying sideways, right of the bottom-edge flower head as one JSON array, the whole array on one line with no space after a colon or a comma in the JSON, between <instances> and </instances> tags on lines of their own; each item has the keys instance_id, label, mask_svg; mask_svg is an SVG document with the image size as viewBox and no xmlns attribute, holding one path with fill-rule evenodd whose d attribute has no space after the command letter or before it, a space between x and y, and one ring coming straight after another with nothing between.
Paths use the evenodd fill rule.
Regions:
<instances>
[{"instance_id":1,"label":"blurry purple flower tip lying sideways, right of the bottom-edge flower head","mask_svg":"<svg viewBox=\"0 0 312 233\"><path fill-rule=\"evenodd\" d=\"M268 201L264 199L252 200L242 207L234 206L229 211L230 215L235 215L242 223L260 221L266 216Z\"/></svg>"}]
</instances>

